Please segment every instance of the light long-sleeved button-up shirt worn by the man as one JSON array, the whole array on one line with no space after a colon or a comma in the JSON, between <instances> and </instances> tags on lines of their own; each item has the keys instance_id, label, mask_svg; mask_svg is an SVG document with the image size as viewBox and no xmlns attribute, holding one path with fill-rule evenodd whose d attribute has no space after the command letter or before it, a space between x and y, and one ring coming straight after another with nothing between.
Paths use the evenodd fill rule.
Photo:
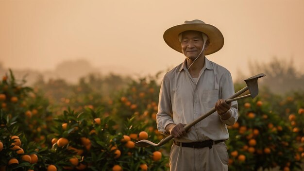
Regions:
<instances>
[{"instance_id":1,"label":"light long-sleeved button-up shirt worn by the man","mask_svg":"<svg viewBox=\"0 0 304 171\"><path fill-rule=\"evenodd\" d=\"M167 135L165 127L170 123L188 124L208 112L219 99L227 99L235 93L230 72L205 58L198 81L194 81L186 69L186 60L167 72L163 78L158 103L156 123L158 131ZM231 117L222 120L215 112L200 121L178 139L180 142L195 142L207 139L228 139L226 125L238 119L237 102L232 102Z\"/></svg>"}]
</instances>

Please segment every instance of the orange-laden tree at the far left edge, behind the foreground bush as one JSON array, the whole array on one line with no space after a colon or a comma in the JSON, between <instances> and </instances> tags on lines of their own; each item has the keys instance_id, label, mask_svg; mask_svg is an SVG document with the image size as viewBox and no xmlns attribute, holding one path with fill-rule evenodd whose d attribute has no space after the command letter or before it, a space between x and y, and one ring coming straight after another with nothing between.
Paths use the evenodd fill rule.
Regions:
<instances>
[{"instance_id":1,"label":"orange-laden tree at the far left edge, behind the foreground bush","mask_svg":"<svg viewBox=\"0 0 304 171\"><path fill-rule=\"evenodd\" d=\"M51 112L47 110L48 101L37 95L25 80L17 81L13 72L4 75L0 82L0 109L11 122L16 122L18 131L22 131L28 139L43 144L48 134Z\"/></svg>"}]
</instances>

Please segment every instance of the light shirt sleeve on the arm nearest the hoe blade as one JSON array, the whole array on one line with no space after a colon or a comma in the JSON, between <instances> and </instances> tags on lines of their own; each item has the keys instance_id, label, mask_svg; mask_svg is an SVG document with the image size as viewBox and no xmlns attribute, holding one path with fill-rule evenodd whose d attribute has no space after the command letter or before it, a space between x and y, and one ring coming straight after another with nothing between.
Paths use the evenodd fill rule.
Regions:
<instances>
[{"instance_id":1,"label":"light shirt sleeve on the arm nearest the hoe blade","mask_svg":"<svg viewBox=\"0 0 304 171\"><path fill-rule=\"evenodd\" d=\"M220 89L221 99L228 99L235 93L235 88L230 72L227 72L222 76L222 79L220 81ZM223 120L220 118L220 120L226 125L233 125L238 119L237 101L231 102L231 108L229 110L231 112L231 117L227 120Z\"/></svg>"}]
</instances>

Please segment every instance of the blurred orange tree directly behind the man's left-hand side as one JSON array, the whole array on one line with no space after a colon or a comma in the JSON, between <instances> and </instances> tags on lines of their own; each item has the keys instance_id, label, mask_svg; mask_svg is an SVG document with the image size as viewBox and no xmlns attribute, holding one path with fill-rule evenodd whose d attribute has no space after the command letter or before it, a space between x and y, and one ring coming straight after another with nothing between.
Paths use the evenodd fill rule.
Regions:
<instances>
[{"instance_id":1,"label":"blurred orange tree directly behind the man's left-hand side","mask_svg":"<svg viewBox=\"0 0 304 171\"><path fill-rule=\"evenodd\" d=\"M133 80L127 88L116 94L112 110L118 123L135 117L137 122L145 125L145 131L149 132L157 142L164 138L158 132L155 121L160 90L160 85L157 84L159 74ZM163 148L169 152L171 145L172 142L167 143Z\"/></svg>"}]
</instances>

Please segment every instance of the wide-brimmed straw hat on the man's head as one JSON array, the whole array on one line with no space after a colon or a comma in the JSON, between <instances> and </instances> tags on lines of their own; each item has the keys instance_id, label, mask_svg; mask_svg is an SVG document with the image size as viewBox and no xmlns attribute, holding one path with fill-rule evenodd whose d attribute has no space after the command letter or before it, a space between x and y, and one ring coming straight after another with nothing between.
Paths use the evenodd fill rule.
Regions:
<instances>
[{"instance_id":1,"label":"wide-brimmed straw hat on the man's head","mask_svg":"<svg viewBox=\"0 0 304 171\"><path fill-rule=\"evenodd\" d=\"M205 51L205 55L212 54L214 52L220 51L224 45L224 37L220 30L213 25L206 24L199 19L192 21L185 21L184 24L173 26L165 31L164 40L165 42L174 49L175 51L182 52L181 42L179 41L179 34L185 31L199 31L207 34L209 37L209 47Z\"/></svg>"}]
</instances>

